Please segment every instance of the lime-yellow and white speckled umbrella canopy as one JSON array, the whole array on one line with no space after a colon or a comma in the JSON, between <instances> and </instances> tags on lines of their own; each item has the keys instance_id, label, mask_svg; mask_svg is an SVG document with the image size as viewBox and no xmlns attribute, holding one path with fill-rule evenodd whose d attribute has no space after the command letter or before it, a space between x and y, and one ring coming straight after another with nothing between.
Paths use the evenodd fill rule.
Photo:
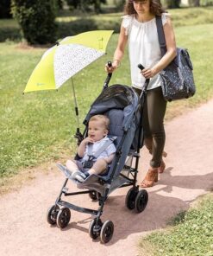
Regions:
<instances>
[{"instance_id":1,"label":"lime-yellow and white speckled umbrella canopy","mask_svg":"<svg viewBox=\"0 0 213 256\"><path fill-rule=\"evenodd\" d=\"M58 89L66 80L105 54L113 30L68 36L47 49L34 68L23 93Z\"/></svg>"}]
</instances>

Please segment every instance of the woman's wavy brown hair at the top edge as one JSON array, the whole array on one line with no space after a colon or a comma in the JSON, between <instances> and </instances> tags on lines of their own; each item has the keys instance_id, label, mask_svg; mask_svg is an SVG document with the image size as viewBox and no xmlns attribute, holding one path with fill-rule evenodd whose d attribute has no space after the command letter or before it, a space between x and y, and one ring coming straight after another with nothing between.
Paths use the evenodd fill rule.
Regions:
<instances>
[{"instance_id":1,"label":"woman's wavy brown hair at the top edge","mask_svg":"<svg viewBox=\"0 0 213 256\"><path fill-rule=\"evenodd\" d=\"M150 12L155 16L160 16L161 13L166 12L162 8L162 4L160 3L160 0L147 0L149 1L150 6ZM126 15L136 14L135 8L133 6L133 0L127 0L125 6L124 6L124 13Z\"/></svg>"}]
</instances>

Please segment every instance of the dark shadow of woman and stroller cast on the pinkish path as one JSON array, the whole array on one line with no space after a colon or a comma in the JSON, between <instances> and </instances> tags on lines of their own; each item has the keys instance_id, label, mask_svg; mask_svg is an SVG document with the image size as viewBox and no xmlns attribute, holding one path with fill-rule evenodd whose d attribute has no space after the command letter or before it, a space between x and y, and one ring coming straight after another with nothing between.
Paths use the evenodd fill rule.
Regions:
<instances>
[{"instance_id":1,"label":"dark shadow of woman and stroller cast on the pinkish path","mask_svg":"<svg viewBox=\"0 0 213 256\"><path fill-rule=\"evenodd\" d=\"M213 173L204 176L172 176L172 168L167 168L162 181L152 188L155 190L149 191L147 189L149 196L147 208L141 214L126 208L126 194L113 195L112 193L105 203L101 217L102 221L110 220L115 225L113 240L106 246L110 246L118 240L125 240L130 234L141 234L166 227L166 223L170 221L172 216L189 208L190 203L200 195L200 189L206 193L212 188ZM189 194L188 189L191 190L190 196L187 196ZM125 188L123 192L128 193L128 188ZM96 206L94 203L94 208ZM71 222L66 230L76 228L80 232L83 231L88 234L88 229L81 227L87 222L89 227L91 217Z\"/></svg>"}]
</instances>

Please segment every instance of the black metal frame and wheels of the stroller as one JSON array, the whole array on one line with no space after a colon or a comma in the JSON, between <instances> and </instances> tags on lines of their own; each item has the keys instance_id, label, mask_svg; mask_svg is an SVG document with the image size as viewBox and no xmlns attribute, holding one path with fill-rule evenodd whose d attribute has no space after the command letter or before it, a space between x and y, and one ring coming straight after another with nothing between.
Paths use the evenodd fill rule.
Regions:
<instances>
[{"instance_id":1,"label":"black metal frame and wheels of the stroller","mask_svg":"<svg viewBox=\"0 0 213 256\"><path fill-rule=\"evenodd\" d=\"M108 87L110 78L111 78L111 74L108 74L103 85L103 90L105 90L105 88ZM141 96L139 99L139 102L141 104L143 104L142 102L144 99L143 95L146 94L147 85L148 85L148 80L146 80L145 85L143 86L143 89L141 92ZM140 104L138 107L140 107ZM141 124L141 118L142 118L142 114L140 116L140 124ZM141 130L142 128L140 126L139 138L141 138ZM80 135L81 138L85 137L86 131L87 129L85 128L83 136ZM124 131L124 136L122 137L122 141L125 139L126 135L127 134L125 134L125 131ZM122 141L120 144L122 144ZM98 236L100 236L100 240L102 243L109 242L114 232L114 224L112 221L102 222L101 215L103 214L104 203L106 202L108 195L110 195L110 193L114 189L132 186L132 188L128 190L128 194L126 195L126 200L125 200L125 204L128 209L132 210L135 208L137 213L141 213L147 206L147 201L148 201L147 190L145 189L139 190L139 186L136 185L139 158L140 158L140 148L141 148L140 141L138 141L136 151L128 159L130 160L130 164L129 163L126 164L125 162L125 165L122 168L122 172L120 172L119 176L117 177L118 179L123 180L122 185L119 187L115 187L115 188L113 188L113 186L111 187L112 177L115 175L115 172L116 172L116 165L119 163L119 159L122 155L122 151L119 149L119 145L116 149L116 156L114 157L115 162L114 162L113 170L110 173L110 179L106 182L102 176L97 177L95 175L92 175L94 176L94 178L96 178L96 182L100 183L103 186L103 190L88 189L87 187L84 187L85 185L81 186L80 183L77 183L78 188L80 189L83 188L87 190L68 193L66 184L69 178L66 177L66 180L63 183L62 188L60 189L60 195L57 197L54 205L47 210L47 222L51 225L57 224L58 227L64 228L68 225L71 219L71 212L70 212L71 209L74 211L78 211L80 213L91 214L91 215L94 215L94 218L92 219L89 227L89 234L91 238L95 240L97 239ZM133 162L135 163L134 167L132 167ZM72 195L82 195L82 194L89 194L89 196L93 201L98 201L99 207L97 208L97 210L91 209L91 208L82 208L61 199L63 195L72 196Z\"/></svg>"}]
</instances>

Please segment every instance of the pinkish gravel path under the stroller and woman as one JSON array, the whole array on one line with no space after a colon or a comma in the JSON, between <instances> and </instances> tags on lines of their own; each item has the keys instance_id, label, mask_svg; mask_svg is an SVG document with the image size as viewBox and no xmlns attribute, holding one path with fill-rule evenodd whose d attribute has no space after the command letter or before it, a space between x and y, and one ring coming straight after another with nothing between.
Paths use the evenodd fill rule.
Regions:
<instances>
[{"instance_id":1,"label":"pinkish gravel path under the stroller and woman","mask_svg":"<svg viewBox=\"0 0 213 256\"><path fill-rule=\"evenodd\" d=\"M151 189L141 214L125 208L128 188L116 189L106 202L102 220L115 224L110 243L92 241L90 215L72 211L70 224L60 230L46 222L47 208L55 201L64 177L58 170L39 173L30 185L0 197L1 256L107 256L136 255L137 243L147 232L166 227L174 214L189 208L198 195L213 188L213 100L166 124L166 171ZM141 152L140 181L149 156ZM75 190L70 184L70 190ZM70 200L70 199L69 199ZM88 195L72 196L72 202L97 208Z\"/></svg>"}]
</instances>

